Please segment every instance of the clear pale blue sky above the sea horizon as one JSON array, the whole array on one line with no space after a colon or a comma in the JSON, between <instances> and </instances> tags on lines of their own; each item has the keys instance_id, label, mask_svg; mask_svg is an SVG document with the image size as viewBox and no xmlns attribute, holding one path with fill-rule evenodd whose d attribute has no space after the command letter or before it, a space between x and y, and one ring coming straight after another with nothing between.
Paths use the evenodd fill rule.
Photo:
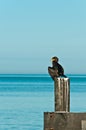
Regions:
<instances>
[{"instance_id":1,"label":"clear pale blue sky above the sea horizon","mask_svg":"<svg viewBox=\"0 0 86 130\"><path fill-rule=\"evenodd\" d=\"M86 73L86 0L0 0L0 73Z\"/></svg>"}]
</instances>

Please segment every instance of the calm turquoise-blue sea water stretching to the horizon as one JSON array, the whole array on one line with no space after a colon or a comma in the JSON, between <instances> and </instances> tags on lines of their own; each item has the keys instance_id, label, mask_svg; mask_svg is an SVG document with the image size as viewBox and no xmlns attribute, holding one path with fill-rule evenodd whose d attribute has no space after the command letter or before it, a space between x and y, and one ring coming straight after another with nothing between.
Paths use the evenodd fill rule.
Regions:
<instances>
[{"instance_id":1,"label":"calm turquoise-blue sea water stretching to the horizon","mask_svg":"<svg viewBox=\"0 0 86 130\"><path fill-rule=\"evenodd\" d=\"M86 75L70 78L70 110L86 112ZM43 130L54 111L54 82L47 74L0 75L0 130Z\"/></svg>"}]
</instances>

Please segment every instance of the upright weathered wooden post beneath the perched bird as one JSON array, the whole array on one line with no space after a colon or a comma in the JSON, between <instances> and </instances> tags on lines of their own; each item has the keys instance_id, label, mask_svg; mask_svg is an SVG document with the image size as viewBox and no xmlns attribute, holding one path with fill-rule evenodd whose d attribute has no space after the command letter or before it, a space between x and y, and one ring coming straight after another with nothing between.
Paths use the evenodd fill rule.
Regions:
<instances>
[{"instance_id":1,"label":"upright weathered wooden post beneath the perched bird","mask_svg":"<svg viewBox=\"0 0 86 130\"><path fill-rule=\"evenodd\" d=\"M69 78L54 80L55 111L70 111L70 81Z\"/></svg>"}]
</instances>

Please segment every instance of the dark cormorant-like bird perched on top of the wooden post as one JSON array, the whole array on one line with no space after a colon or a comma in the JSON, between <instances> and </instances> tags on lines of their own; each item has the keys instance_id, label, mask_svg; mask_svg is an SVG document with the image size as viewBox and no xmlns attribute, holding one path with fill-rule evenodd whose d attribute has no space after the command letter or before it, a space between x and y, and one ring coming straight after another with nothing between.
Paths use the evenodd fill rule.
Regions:
<instances>
[{"instance_id":1,"label":"dark cormorant-like bird perched on top of the wooden post","mask_svg":"<svg viewBox=\"0 0 86 130\"><path fill-rule=\"evenodd\" d=\"M58 57L54 56L52 57L52 67L48 67L48 72L52 79L54 80L55 77L65 77L64 75L64 69L63 67L58 63L59 59Z\"/></svg>"}]
</instances>

